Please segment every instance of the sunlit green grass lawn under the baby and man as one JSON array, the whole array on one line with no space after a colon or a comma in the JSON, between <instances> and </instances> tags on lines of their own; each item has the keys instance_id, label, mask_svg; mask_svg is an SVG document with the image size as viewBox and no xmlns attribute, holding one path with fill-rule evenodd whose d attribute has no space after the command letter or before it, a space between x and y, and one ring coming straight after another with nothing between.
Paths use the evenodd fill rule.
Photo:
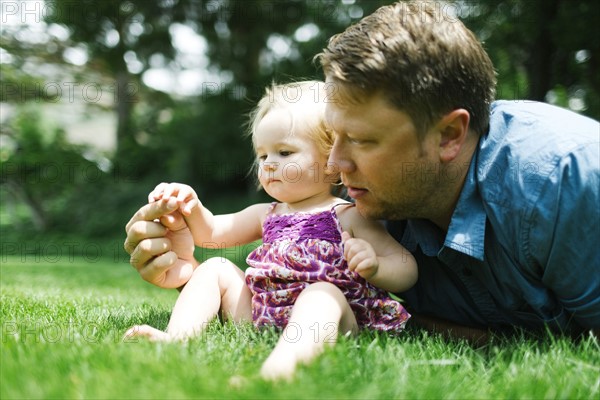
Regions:
<instances>
[{"instance_id":1,"label":"sunlit green grass lawn under the baby and man","mask_svg":"<svg viewBox=\"0 0 600 400\"><path fill-rule=\"evenodd\" d=\"M122 342L133 324L164 328L177 297L143 282L125 257L1 258L2 399L600 396L595 338L495 337L474 347L416 328L341 338L292 382L264 382L273 331L216 321L185 344Z\"/></svg>"}]
</instances>

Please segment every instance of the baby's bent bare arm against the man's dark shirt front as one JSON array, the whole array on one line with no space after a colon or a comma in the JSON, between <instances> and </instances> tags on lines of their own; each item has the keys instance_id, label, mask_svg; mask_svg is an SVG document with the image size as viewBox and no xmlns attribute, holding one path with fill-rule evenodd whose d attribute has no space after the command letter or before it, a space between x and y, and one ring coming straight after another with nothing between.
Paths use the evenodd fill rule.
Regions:
<instances>
[{"instance_id":1,"label":"baby's bent bare arm against the man's dark shirt front","mask_svg":"<svg viewBox=\"0 0 600 400\"><path fill-rule=\"evenodd\" d=\"M356 208L340 213L348 268L388 292L401 292L417 281L417 263L378 221L363 218Z\"/></svg>"}]
</instances>

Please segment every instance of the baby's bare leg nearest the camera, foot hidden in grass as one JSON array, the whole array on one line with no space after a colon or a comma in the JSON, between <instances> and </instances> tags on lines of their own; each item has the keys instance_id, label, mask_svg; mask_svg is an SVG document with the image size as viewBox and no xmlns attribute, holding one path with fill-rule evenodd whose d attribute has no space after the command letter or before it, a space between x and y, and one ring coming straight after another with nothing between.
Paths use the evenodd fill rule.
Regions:
<instances>
[{"instance_id":1,"label":"baby's bare leg nearest the camera, foot hidden in grass","mask_svg":"<svg viewBox=\"0 0 600 400\"><path fill-rule=\"evenodd\" d=\"M290 321L264 362L261 375L266 379L289 379L298 363L313 360L326 343L336 342L339 333L357 330L356 318L342 291L331 283L314 283L298 296Z\"/></svg>"}]
</instances>

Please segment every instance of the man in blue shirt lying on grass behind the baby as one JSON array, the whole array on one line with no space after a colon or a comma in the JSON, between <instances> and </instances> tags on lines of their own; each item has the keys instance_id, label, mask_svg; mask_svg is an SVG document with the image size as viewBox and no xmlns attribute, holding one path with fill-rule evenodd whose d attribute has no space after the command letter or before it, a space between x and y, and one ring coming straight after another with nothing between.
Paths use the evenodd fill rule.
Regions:
<instances>
[{"instance_id":1,"label":"man in blue shirt lying on grass behind the baby","mask_svg":"<svg viewBox=\"0 0 600 400\"><path fill-rule=\"evenodd\" d=\"M317 56L332 95L329 161L358 210L417 258L419 281L399 296L415 321L458 334L599 328L599 124L493 102L480 43L428 4L382 7ZM165 232L186 237L177 214L162 221L181 230L149 222L168 211L145 206L127 228L151 282L182 243Z\"/></svg>"}]
</instances>

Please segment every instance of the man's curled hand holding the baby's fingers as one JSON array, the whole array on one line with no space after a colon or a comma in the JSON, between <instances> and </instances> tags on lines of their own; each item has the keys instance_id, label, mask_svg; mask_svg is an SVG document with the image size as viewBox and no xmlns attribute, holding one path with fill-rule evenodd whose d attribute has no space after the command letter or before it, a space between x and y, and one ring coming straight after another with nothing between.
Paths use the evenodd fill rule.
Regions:
<instances>
[{"instance_id":1,"label":"man's curled hand holding the baby's fingers","mask_svg":"<svg viewBox=\"0 0 600 400\"><path fill-rule=\"evenodd\" d=\"M176 199L146 204L129 220L125 250L140 276L162 288L183 286L198 266Z\"/></svg>"}]
</instances>

